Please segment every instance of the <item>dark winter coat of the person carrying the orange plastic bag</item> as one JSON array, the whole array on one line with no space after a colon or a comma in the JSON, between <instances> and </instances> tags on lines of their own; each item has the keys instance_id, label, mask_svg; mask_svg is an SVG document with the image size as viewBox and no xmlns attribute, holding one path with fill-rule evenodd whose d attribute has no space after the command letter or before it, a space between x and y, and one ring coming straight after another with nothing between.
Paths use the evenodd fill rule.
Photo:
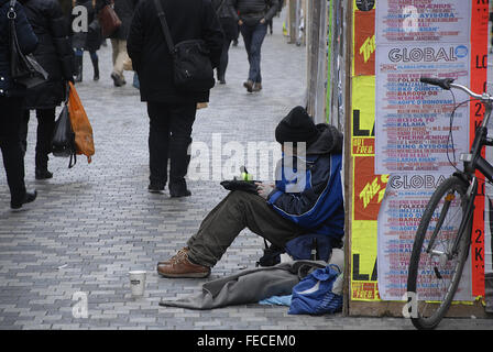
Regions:
<instances>
[{"instance_id":1,"label":"dark winter coat of the person carrying the orange plastic bag","mask_svg":"<svg viewBox=\"0 0 493 352\"><path fill-rule=\"evenodd\" d=\"M48 73L48 81L28 90L28 109L51 109L62 103L65 82L73 79L74 52L68 40L66 16L57 0L23 0L29 22L40 44L34 57Z\"/></svg>"}]
</instances>

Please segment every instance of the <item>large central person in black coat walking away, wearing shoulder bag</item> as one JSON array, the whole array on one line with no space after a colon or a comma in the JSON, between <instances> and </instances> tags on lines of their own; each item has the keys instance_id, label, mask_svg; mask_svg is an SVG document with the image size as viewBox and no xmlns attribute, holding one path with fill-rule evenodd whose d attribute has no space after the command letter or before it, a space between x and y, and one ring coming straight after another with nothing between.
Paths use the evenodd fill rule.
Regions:
<instances>
[{"instance_id":1,"label":"large central person in black coat walking away, wearing shoulder bag","mask_svg":"<svg viewBox=\"0 0 493 352\"><path fill-rule=\"evenodd\" d=\"M174 44L204 40L212 67L219 66L222 31L210 0L161 0ZM163 193L171 158L169 194L189 196L185 176L190 156L191 127L197 102L209 101L209 90L180 92L173 82L169 54L154 0L141 0L127 42L132 65L139 75L141 100L147 102L150 117L149 153L151 193Z\"/></svg>"}]
</instances>

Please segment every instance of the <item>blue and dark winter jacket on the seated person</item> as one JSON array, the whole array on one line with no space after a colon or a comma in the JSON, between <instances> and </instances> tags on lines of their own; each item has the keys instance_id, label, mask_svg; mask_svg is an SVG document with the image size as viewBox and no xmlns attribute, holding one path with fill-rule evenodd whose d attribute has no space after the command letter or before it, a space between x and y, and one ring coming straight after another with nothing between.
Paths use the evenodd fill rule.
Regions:
<instances>
[{"instance_id":1,"label":"blue and dark winter jacket on the seated person","mask_svg":"<svg viewBox=\"0 0 493 352\"><path fill-rule=\"evenodd\" d=\"M342 198L342 134L333 127L318 124L319 139L287 165L284 156L276 168L276 187L267 202L281 216L292 220L307 233L326 234L340 240L344 234ZM284 167L283 167L284 165ZM305 168L302 175L298 169Z\"/></svg>"}]
</instances>

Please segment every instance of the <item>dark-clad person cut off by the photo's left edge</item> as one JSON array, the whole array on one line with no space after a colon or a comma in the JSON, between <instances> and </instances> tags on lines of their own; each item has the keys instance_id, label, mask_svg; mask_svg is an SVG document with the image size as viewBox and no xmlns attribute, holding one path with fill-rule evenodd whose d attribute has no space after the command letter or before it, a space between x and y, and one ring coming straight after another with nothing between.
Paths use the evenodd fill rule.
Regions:
<instances>
[{"instance_id":1,"label":"dark-clad person cut off by the photo's left edge","mask_svg":"<svg viewBox=\"0 0 493 352\"><path fill-rule=\"evenodd\" d=\"M9 0L0 0L0 150L7 174L11 200L10 208L20 210L36 198L36 191L28 191L24 184L24 155L19 129L22 120L22 103L25 89L15 85L10 77L9 57ZM15 33L23 54L32 53L37 37L31 28L22 4L15 3ZM12 15L13 16L13 15Z\"/></svg>"}]
</instances>

